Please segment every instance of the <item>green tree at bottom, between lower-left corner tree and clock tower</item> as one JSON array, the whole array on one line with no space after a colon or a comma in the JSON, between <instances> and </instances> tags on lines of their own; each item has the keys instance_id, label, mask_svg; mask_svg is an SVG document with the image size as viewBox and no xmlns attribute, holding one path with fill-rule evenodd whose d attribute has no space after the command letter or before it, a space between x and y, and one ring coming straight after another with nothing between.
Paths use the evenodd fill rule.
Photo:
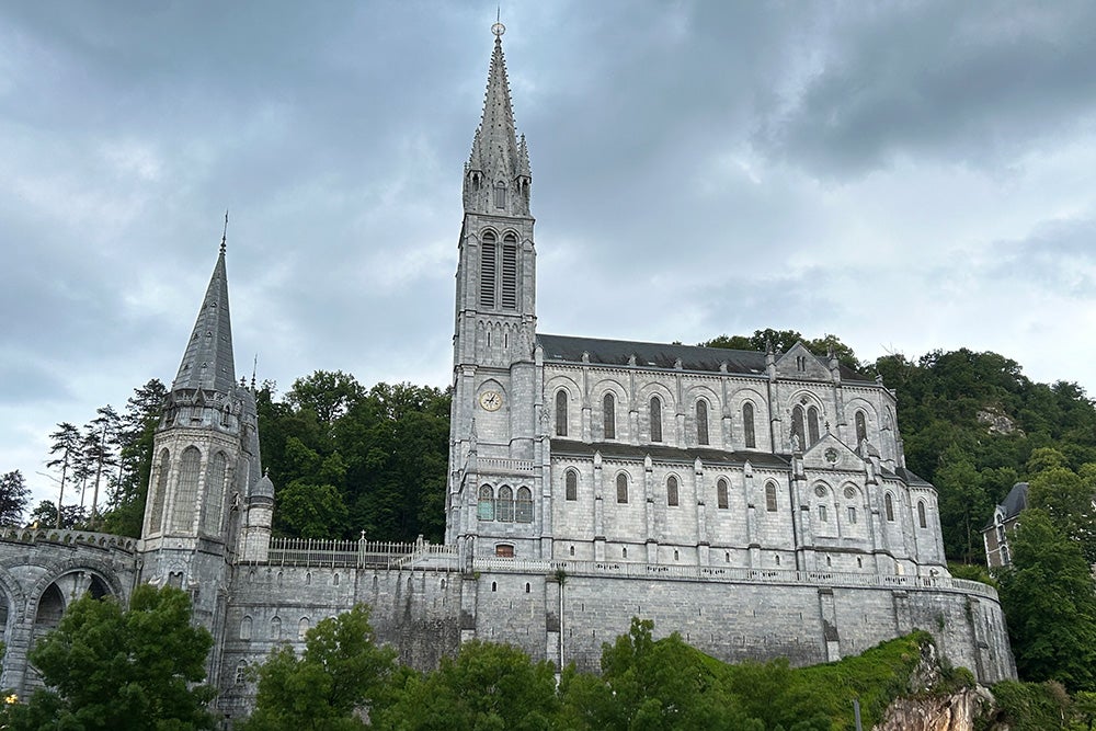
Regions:
<instances>
[{"instance_id":1,"label":"green tree at bottom, between lower-left corner tree and clock tower","mask_svg":"<svg viewBox=\"0 0 1096 731\"><path fill-rule=\"evenodd\" d=\"M386 693L396 652L374 641L369 607L356 605L305 635L305 652L276 648L259 669L255 711L246 731L341 731L365 724Z\"/></svg>"}]
</instances>

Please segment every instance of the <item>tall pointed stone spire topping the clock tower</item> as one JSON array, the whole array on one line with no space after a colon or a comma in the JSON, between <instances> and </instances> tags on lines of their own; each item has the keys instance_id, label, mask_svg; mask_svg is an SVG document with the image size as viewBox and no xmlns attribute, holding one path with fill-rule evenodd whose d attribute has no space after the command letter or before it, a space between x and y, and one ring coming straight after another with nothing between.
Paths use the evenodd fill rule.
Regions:
<instances>
[{"instance_id":1,"label":"tall pointed stone spire topping the clock tower","mask_svg":"<svg viewBox=\"0 0 1096 731\"><path fill-rule=\"evenodd\" d=\"M472 150L465 165L465 210L502 216L529 215L529 155L524 135L518 141L514 111L506 79L506 59L502 54L502 23L491 27L494 53L487 80L483 116L472 138Z\"/></svg>"}]
</instances>

